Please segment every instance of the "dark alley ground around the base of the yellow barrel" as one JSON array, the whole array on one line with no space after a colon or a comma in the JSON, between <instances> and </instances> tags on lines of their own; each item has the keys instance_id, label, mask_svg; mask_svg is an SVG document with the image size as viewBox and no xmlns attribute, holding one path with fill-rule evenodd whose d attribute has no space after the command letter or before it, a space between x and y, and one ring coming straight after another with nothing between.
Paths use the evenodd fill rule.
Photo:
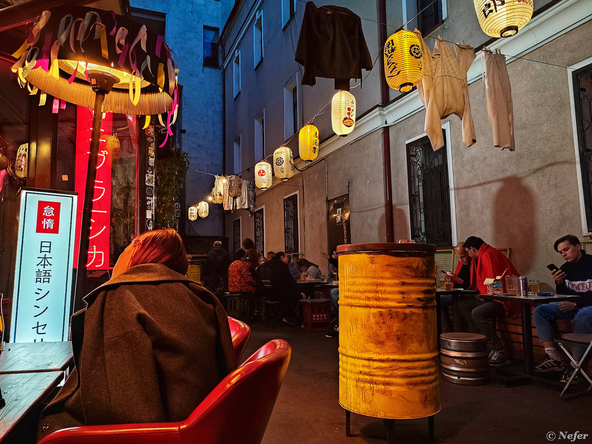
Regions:
<instances>
[{"instance_id":1,"label":"dark alley ground around the base of the yellow barrel","mask_svg":"<svg viewBox=\"0 0 592 444\"><path fill-rule=\"evenodd\" d=\"M352 434L345 437L345 413L338 399L337 337L306 332L296 326L264 327L249 322L252 335L244 357L270 339L292 346L292 359L279 392L264 443L383 443L382 420L352 414ZM526 385L505 388L492 372L480 387L440 382L442 410L435 417L436 442L592 444L592 395L559 401L559 393ZM587 434L584 439L562 438L560 432ZM427 442L427 419L397 421L397 443Z\"/></svg>"}]
</instances>

